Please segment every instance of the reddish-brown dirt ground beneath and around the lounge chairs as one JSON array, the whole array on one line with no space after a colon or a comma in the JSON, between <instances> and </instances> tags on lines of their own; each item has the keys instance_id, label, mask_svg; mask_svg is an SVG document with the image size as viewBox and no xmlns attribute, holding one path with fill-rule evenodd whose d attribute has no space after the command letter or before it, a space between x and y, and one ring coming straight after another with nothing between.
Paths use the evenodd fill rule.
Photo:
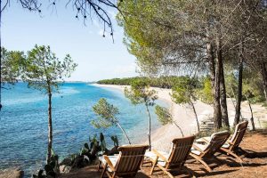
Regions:
<instances>
[{"instance_id":1,"label":"reddish-brown dirt ground beneath and around the lounge chairs","mask_svg":"<svg viewBox=\"0 0 267 178\"><path fill-rule=\"evenodd\" d=\"M267 130L247 133L240 147L247 151L247 156L243 158L243 164L237 163L234 158L218 153L217 158L219 159L208 161L208 165L213 168L211 173L207 173L204 166L193 159L189 159L186 166L190 168L196 177L267 177ZM156 172L153 175L150 175L149 172L150 165L144 165L136 177L168 177L158 168L156 168ZM174 174L174 177L190 177L186 172L174 172L172 174ZM100 177L100 175L101 173L97 172L97 166L87 166L77 172L64 174L61 177L94 178Z\"/></svg>"}]
</instances>

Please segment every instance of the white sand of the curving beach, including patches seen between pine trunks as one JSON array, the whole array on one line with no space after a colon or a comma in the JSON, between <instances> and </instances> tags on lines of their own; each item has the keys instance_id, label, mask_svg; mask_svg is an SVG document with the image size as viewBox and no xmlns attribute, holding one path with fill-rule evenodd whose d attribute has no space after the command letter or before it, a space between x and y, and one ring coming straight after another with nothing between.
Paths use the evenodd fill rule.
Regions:
<instances>
[{"instance_id":1,"label":"white sand of the curving beach, including patches seen between pine trunks","mask_svg":"<svg viewBox=\"0 0 267 178\"><path fill-rule=\"evenodd\" d=\"M94 85L99 87L117 89L121 92L124 92L125 89L125 85ZM196 118L190 106L174 103L170 96L170 89L152 89L157 91L159 100L166 101L171 106L170 111L174 117L174 121L182 128L182 132L185 136L197 133ZM207 117L213 117L214 109L212 105L207 105L201 101L195 101L194 104L198 114L199 122L206 119ZM235 109L231 99L227 99L227 105L230 124L232 125L235 116ZM256 104L252 105L252 109L254 112L256 128L263 128L263 122L267 122L267 110L261 105ZM247 118L248 120L251 117L247 101L242 102L241 113L242 117ZM182 137L182 134L175 125L161 126L158 129L152 131L152 147L153 149L168 151L170 149L172 140L176 137Z\"/></svg>"}]
</instances>

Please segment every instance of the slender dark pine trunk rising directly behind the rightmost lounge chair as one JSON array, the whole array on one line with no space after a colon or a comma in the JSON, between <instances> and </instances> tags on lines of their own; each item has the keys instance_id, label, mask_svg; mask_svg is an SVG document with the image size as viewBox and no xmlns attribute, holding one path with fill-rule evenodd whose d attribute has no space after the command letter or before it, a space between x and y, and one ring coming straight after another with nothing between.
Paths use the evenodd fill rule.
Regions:
<instances>
[{"instance_id":1,"label":"slender dark pine trunk rising directly behind the rightmost lounge chair","mask_svg":"<svg viewBox=\"0 0 267 178\"><path fill-rule=\"evenodd\" d=\"M243 80L243 44L240 44L239 49L239 86L238 86L238 98L236 103L236 115L234 120L234 126L239 124L240 112L241 112L241 100L242 100L242 80Z\"/></svg>"}]
</instances>

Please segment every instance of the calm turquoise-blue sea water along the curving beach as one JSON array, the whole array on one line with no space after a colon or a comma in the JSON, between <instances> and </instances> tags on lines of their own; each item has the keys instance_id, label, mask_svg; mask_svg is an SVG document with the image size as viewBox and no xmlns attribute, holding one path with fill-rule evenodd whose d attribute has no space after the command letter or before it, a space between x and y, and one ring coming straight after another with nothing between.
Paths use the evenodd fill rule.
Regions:
<instances>
[{"instance_id":1,"label":"calm turquoise-blue sea water along the curving beach","mask_svg":"<svg viewBox=\"0 0 267 178\"><path fill-rule=\"evenodd\" d=\"M117 127L99 130L90 125L90 120L95 117L92 106L102 97L120 110L120 123L134 142L137 138L146 138L147 115L142 106L133 106L118 90L68 83L61 86L61 93L53 94L53 150L61 158L78 152L90 135L100 132L109 144L109 136L114 134L119 137L120 144L126 143ZM3 105L0 112L0 169L20 166L30 176L45 161L47 98L19 83L11 90L4 90ZM152 117L152 127L155 128L158 122L154 114Z\"/></svg>"}]
</instances>

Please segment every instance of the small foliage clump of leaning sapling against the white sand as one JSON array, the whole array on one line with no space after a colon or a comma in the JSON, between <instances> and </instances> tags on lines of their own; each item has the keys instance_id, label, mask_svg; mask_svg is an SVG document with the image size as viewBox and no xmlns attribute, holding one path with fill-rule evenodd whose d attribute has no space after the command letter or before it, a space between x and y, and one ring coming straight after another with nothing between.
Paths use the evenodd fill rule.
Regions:
<instances>
[{"instance_id":1,"label":"small foliage clump of leaning sapling against the white sand","mask_svg":"<svg viewBox=\"0 0 267 178\"><path fill-rule=\"evenodd\" d=\"M173 124L174 122L173 117L169 112L169 110L166 109L165 107L156 105L155 113L157 114L158 121L160 122L161 125Z\"/></svg>"}]
</instances>

